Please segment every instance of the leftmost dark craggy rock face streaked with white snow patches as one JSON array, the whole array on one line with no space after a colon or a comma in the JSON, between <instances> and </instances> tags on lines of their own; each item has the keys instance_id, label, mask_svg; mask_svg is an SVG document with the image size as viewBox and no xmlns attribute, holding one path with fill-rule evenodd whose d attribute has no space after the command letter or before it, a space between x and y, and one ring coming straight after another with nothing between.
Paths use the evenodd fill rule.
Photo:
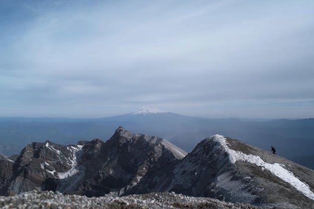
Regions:
<instances>
[{"instance_id":1,"label":"leftmost dark craggy rock face streaked with white snow patches","mask_svg":"<svg viewBox=\"0 0 314 209\"><path fill-rule=\"evenodd\" d=\"M50 141L27 145L13 165L6 184L9 194L56 188L58 175L71 169L80 145L63 146Z\"/></svg>"}]
</instances>

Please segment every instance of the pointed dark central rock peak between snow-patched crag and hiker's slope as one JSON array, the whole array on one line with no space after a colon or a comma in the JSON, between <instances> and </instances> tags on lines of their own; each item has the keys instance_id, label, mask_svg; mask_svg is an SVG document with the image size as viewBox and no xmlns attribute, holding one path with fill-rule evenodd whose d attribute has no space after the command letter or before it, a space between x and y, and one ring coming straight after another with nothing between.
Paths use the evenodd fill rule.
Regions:
<instances>
[{"instance_id":1,"label":"pointed dark central rock peak between snow-patched crag and hiker's slope","mask_svg":"<svg viewBox=\"0 0 314 209\"><path fill-rule=\"evenodd\" d=\"M133 189L142 178L151 173L165 172L187 153L166 140L142 134L133 134L119 127L106 143L93 140L84 146L79 161L87 171L84 182L76 192L100 196L114 191L118 194L147 192ZM131 192L133 193L133 192Z\"/></svg>"}]
</instances>

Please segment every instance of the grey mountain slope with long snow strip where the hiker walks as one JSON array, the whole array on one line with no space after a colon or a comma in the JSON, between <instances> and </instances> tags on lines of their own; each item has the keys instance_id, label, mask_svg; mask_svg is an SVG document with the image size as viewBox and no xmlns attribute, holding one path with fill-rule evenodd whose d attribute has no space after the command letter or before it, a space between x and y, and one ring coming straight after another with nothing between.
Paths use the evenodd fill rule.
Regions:
<instances>
[{"instance_id":1,"label":"grey mountain slope with long snow strip where the hiker walks","mask_svg":"<svg viewBox=\"0 0 314 209\"><path fill-rule=\"evenodd\" d=\"M314 171L241 141L215 135L174 169L166 190L230 202L310 208Z\"/></svg>"}]
</instances>

